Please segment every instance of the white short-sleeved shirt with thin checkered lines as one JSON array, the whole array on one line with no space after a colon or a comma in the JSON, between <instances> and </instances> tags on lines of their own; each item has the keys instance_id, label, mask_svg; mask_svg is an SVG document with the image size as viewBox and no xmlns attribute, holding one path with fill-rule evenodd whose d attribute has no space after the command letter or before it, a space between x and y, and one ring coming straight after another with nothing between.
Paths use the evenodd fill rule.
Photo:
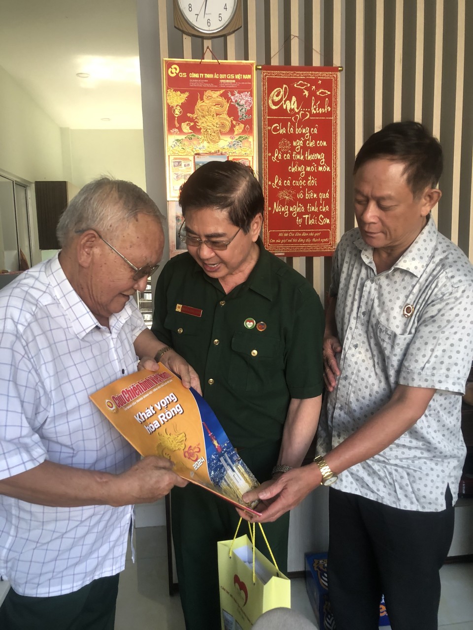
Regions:
<instances>
[{"instance_id":1,"label":"white short-sleeved shirt with thin checkered lines","mask_svg":"<svg viewBox=\"0 0 473 630\"><path fill-rule=\"evenodd\" d=\"M137 459L89 394L136 371L133 299L100 326L57 255L0 291L0 478L45 459L121 473ZM124 568L132 506L55 508L0 496L0 575L21 595L69 593Z\"/></svg>"}]
</instances>

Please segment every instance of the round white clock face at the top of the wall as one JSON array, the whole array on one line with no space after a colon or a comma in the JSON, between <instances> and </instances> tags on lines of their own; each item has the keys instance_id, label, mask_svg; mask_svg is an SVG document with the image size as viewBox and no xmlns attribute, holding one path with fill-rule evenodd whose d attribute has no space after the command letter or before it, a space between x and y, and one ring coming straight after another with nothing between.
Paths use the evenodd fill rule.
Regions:
<instances>
[{"instance_id":1,"label":"round white clock face at the top of the wall","mask_svg":"<svg viewBox=\"0 0 473 630\"><path fill-rule=\"evenodd\" d=\"M178 8L190 26L205 33L218 33L233 18L237 0L178 0Z\"/></svg>"}]
</instances>

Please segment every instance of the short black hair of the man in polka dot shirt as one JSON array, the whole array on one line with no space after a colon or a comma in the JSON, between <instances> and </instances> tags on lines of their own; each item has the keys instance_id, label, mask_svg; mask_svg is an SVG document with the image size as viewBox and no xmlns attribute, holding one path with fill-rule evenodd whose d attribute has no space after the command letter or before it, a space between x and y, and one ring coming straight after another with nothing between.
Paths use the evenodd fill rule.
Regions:
<instances>
[{"instance_id":1,"label":"short black hair of the man in polka dot shirt","mask_svg":"<svg viewBox=\"0 0 473 630\"><path fill-rule=\"evenodd\" d=\"M406 184L416 197L435 188L443 171L440 142L419 122L392 122L370 135L356 156L353 174L371 159L386 158L405 164Z\"/></svg>"}]
</instances>

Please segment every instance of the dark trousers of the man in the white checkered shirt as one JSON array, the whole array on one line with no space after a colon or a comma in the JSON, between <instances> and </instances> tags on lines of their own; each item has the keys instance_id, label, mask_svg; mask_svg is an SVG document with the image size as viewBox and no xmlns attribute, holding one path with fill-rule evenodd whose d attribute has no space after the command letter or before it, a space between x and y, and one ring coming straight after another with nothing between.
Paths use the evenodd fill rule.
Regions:
<instances>
[{"instance_id":1,"label":"dark trousers of the man in the white checkered shirt","mask_svg":"<svg viewBox=\"0 0 473 630\"><path fill-rule=\"evenodd\" d=\"M114 630L119 573L66 595L26 597L10 588L0 607L1 630Z\"/></svg>"}]
</instances>

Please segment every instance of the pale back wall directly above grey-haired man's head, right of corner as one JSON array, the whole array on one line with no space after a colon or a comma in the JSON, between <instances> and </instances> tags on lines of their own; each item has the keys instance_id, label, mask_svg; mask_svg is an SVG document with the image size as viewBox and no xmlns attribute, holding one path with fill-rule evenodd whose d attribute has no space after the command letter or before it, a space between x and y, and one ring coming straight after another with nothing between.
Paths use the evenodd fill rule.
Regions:
<instances>
[{"instance_id":1,"label":"pale back wall directly above grey-haired man's head, right of corner","mask_svg":"<svg viewBox=\"0 0 473 630\"><path fill-rule=\"evenodd\" d=\"M62 129L62 140L67 180L79 188L105 175L146 190L141 129Z\"/></svg>"}]
</instances>

